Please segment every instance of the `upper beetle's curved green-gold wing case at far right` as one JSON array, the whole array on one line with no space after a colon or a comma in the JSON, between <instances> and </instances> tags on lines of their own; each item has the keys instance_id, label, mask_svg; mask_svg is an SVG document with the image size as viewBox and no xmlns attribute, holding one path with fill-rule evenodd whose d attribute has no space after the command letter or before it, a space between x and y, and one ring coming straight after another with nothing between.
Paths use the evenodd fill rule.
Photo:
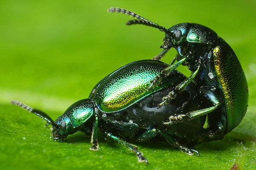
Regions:
<instances>
[{"instance_id":1,"label":"upper beetle's curved green-gold wing case at far right","mask_svg":"<svg viewBox=\"0 0 256 170\"><path fill-rule=\"evenodd\" d=\"M213 49L213 58L227 108L227 132L230 132L241 122L247 110L247 81L236 54L221 38Z\"/></svg>"}]
</instances>

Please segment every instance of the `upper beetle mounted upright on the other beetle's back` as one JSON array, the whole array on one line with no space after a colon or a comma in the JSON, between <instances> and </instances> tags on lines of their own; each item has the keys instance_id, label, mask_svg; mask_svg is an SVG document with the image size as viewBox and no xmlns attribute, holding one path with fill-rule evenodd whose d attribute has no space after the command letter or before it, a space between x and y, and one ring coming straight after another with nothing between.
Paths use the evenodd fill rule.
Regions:
<instances>
[{"instance_id":1,"label":"upper beetle mounted upright on the other beetle's back","mask_svg":"<svg viewBox=\"0 0 256 170\"><path fill-rule=\"evenodd\" d=\"M247 111L248 86L241 64L227 42L212 29L197 23L180 23L167 29L126 9L110 8L108 11L127 14L137 19L128 21L127 25L142 24L165 33L163 45L160 46L163 51L153 57L154 60L162 59L170 48L177 50L170 66L151 80L148 89L166 79L179 65L187 65L192 72L175 90L163 97L159 108L182 93L191 82L200 87L199 91L212 101L208 108L188 112L179 117L170 116L165 124L207 115L209 128L204 141L222 139L226 133L239 125Z\"/></svg>"}]
</instances>

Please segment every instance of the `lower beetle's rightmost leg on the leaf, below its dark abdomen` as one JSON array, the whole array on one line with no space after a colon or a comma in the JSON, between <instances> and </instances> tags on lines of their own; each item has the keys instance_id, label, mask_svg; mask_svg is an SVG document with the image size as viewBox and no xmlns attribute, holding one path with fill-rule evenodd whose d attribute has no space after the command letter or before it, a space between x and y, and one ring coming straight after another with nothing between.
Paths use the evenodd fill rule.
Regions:
<instances>
[{"instance_id":1,"label":"lower beetle's rightmost leg on the leaf, below its dark abdomen","mask_svg":"<svg viewBox=\"0 0 256 170\"><path fill-rule=\"evenodd\" d=\"M158 130L158 133L160 133L161 136L163 136L169 144L171 144L173 147L178 147L184 153L189 154L189 155L194 155L194 153L196 153L197 156L200 155L200 153L197 150L189 149L189 148L184 147L184 146L180 146L180 144L178 144L175 141L175 139L173 139L172 136L170 136L169 134L161 132L160 130Z\"/></svg>"}]
</instances>

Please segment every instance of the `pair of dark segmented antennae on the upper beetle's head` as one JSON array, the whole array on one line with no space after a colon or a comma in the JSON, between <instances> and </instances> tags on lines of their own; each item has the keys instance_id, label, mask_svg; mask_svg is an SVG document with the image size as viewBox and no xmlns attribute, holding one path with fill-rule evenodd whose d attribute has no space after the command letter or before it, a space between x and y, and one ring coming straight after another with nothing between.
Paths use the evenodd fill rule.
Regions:
<instances>
[{"instance_id":1,"label":"pair of dark segmented antennae on the upper beetle's head","mask_svg":"<svg viewBox=\"0 0 256 170\"><path fill-rule=\"evenodd\" d=\"M122 14L127 14L127 15L131 15L131 17L135 17L137 20L131 20L131 21L128 21L126 23L126 25L133 25L133 24L142 24L142 25L145 25L145 26L150 26L150 27L154 27L154 28L157 28L159 29L160 31L163 31L167 34L172 34L172 32L170 32L168 29L166 29L165 27L163 26L159 26L157 23L153 23L152 21L150 20L147 20L143 17L141 17L140 15L134 13L134 12L131 12L129 10L126 10L126 9L121 9L121 8L109 8L108 9L108 12L111 12L111 13L122 13Z\"/></svg>"}]
</instances>

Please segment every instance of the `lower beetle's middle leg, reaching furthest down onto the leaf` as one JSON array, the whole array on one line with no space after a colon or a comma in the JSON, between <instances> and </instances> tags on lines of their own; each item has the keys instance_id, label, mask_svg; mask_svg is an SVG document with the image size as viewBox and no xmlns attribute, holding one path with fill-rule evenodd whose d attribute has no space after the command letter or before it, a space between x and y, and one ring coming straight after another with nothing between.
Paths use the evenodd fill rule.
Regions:
<instances>
[{"instance_id":1,"label":"lower beetle's middle leg, reaching furthest down onto the leaf","mask_svg":"<svg viewBox=\"0 0 256 170\"><path fill-rule=\"evenodd\" d=\"M119 144L122 144L125 147L128 147L129 150L131 150L132 152L136 153L136 156L138 157L138 161L139 162L145 161L146 164L148 163L148 160L143 156L143 153L138 150L137 146L135 146L133 144L130 144L128 142L125 142L124 140L122 140L122 139L120 139L120 138L118 138L116 136L113 136L111 133L107 133L106 132L106 134L107 134L108 137L114 139Z\"/></svg>"}]
</instances>

